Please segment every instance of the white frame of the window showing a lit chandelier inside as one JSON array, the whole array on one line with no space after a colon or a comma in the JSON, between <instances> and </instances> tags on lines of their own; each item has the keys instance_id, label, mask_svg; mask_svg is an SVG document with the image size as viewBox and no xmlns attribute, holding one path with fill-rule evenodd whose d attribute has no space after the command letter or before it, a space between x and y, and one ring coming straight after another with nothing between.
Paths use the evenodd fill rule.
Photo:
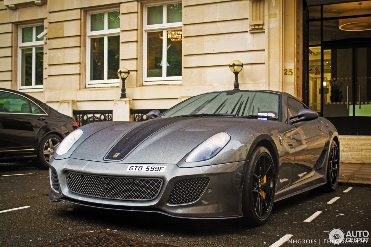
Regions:
<instances>
[{"instance_id":1,"label":"white frame of the window showing a lit chandelier inside","mask_svg":"<svg viewBox=\"0 0 371 247\"><path fill-rule=\"evenodd\" d=\"M167 37L169 30L182 30L183 22L165 23L167 21L167 4L182 3L181 1L161 1L157 3L148 3L143 6L143 85L164 85L164 84L181 84L182 76L166 76L166 70L162 70L162 77L147 77L147 33L158 32L162 30L162 37ZM153 6L163 6L162 24L147 25L147 8ZM183 44L182 44L183 45ZM167 43L162 42L162 64L167 61ZM182 55L183 56L183 55ZM183 63L183 59L182 59ZM166 67L166 66L164 66ZM183 65L182 65L183 67ZM167 69L167 67L166 67Z\"/></svg>"}]
</instances>

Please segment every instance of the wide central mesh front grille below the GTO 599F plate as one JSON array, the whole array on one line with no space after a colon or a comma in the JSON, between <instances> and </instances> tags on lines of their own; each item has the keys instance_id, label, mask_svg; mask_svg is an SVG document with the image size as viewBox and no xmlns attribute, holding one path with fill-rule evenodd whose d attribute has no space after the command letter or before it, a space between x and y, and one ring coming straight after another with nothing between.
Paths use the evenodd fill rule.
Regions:
<instances>
[{"instance_id":1,"label":"wide central mesh front grille below the GTO 599F plate","mask_svg":"<svg viewBox=\"0 0 371 247\"><path fill-rule=\"evenodd\" d=\"M76 194L92 197L148 201L160 193L160 178L106 177L67 172L67 185Z\"/></svg>"}]
</instances>

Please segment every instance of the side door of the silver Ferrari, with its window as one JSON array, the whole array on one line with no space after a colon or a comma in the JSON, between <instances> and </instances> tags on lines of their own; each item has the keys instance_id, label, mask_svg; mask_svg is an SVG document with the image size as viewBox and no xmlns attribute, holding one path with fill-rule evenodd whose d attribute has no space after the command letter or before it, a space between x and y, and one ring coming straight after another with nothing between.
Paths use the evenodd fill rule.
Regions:
<instances>
[{"instance_id":1,"label":"side door of the silver Ferrari, with its window","mask_svg":"<svg viewBox=\"0 0 371 247\"><path fill-rule=\"evenodd\" d=\"M288 115L293 116L305 108L301 102L288 98ZM315 120L295 123L291 132L292 144L295 148L295 160L290 184L314 175L314 166L321 155L325 143L323 132Z\"/></svg>"}]
</instances>

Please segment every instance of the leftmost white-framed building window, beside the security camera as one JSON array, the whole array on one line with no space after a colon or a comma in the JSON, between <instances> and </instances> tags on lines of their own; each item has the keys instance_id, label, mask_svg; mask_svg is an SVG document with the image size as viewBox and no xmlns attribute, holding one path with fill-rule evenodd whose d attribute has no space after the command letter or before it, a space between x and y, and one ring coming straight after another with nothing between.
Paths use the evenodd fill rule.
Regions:
<instances>
[{"instance_id":1,"label":"leftmost white-framed building window, beside the security camera","mask_svg":"<svg viewBox=\"0 0 371 247\"><path fill-rule=\"evenodd\" d=\"M37 35L43 24L19 27L18 89L25 92L43 91L44 39Z\"/></svg>"}]
</instances>

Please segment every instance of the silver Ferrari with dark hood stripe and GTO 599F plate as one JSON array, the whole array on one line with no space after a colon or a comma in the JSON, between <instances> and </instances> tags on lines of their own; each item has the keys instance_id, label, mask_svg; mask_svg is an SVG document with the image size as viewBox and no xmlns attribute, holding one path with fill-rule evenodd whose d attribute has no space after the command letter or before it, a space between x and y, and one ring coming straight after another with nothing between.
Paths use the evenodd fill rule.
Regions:
<instances>
[{"instance_id":1,"label":"silver Ferrari with dark hood stripe and GTO 599F plate","mask_svg":"<svg viewBox=\"0 0 371 247\"><path fill-rule=\"evenodd\" d=\"M204 93L148 116L69 134L49 200L261 225L273 202L338 184L335 127L288 93Z\"/></svg>"}]
</instances>

